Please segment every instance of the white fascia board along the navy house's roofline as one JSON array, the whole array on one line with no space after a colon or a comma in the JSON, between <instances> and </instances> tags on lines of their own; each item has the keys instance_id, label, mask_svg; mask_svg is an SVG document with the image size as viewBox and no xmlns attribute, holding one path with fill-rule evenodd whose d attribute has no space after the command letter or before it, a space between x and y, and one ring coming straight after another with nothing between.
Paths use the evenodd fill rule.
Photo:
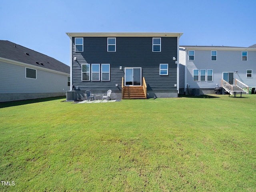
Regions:
<instances>
[{"instance_id":1,"label":"white fascia board along the navy house's roofline","mask_svg":"<svg viewBox=\"0 0 256 192\"><path fill-rule=\"evenodd\" d=\"M67 32L71 37L180 37L181 32Z\"/></svg>"}]
</instances>

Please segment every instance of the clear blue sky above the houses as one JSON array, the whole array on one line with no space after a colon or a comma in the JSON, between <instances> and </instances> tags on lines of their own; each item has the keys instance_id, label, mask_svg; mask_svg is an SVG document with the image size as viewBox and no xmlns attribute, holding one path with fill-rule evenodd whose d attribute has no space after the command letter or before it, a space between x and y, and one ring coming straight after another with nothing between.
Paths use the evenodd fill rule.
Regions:
<instances>
[{"instance_id":1,"label":"clear blue sky above the houses","mask_svg":"<svg viewBox=\"0 0 256 192\"><path fill-rule=\"evenodd\" d=\"M70 65L66 32L183 32L180 45L256 44L255 0L4 0L0 40Z\"/></svg>"}]
</instances>

